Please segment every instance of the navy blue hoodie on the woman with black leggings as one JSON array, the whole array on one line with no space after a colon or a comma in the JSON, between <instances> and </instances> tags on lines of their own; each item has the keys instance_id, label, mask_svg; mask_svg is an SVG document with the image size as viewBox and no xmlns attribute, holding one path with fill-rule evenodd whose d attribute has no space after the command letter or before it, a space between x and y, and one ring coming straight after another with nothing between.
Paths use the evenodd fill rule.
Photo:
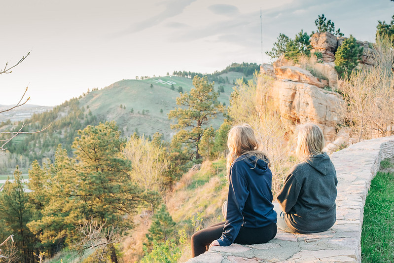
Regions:
<instances>
[{"instance_id":1,"label":"navy blue hoodie on the woman with black leggings","mask_svg":"<svg viewBox=\"0 0 394 263\"><path fill-rule=\"evenodd\" d=\"M267 163L242 155L230 169L227 217L220 246L231 245L241 226L259 228L276 223L272 205L272 173Z\"/></svg>"}]
</instances>

